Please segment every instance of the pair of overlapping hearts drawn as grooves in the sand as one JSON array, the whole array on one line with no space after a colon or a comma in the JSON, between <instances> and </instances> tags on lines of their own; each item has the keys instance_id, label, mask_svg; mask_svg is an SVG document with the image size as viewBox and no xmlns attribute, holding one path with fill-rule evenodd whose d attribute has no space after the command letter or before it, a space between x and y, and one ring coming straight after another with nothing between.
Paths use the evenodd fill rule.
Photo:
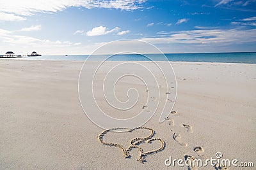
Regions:
<instances>
[{"instance_id":1,"label":"pair of overlapping hearts drawn as grooves in the sand","mask_svg":"<svg viewBox=\"0 0 256 170\"><path fill-rule=\"evenodd\" d=\"M118 144L118 143L106 143L103 140L104 135L107 134L108 132L116 131L116 130L120 130L120 129L125 129L125 128L113 128L113 129L108 129L108 130L103 131L102 133L100 133L99 136L98 136L98 139L99 139L100 143L102 143L103 145L115 146L117 148L120 148L120 150L122 150L123 155L124 155L125 158L131 157L130 151L132 150L132 148L137 148L140 151L140 155L139 155L138 161L141 162L141 163L143 163L145 161L145 157L147 155L151 155L153 153L160 152L161 150L164 149L164 145L165 145L164 141L162 139L160 139L160 138L152 138L152 136L154 136L154 130L150 129L148 127L136 127L134 129L129 129L129 132L136 131L138 129L145 129L145 130L151 131L151 134L148 135L148 136L145 136L144 138L133 138L130 141L130 145L129 145L128 148L124 148L123 145ZM160 141L161 142L161 146L159 146L159 148L156 148L156 149L148 151L148 152L144 152L143 149L140 148L140 145L142 143L149 143L149 144L151 144L154 141Z\"/></svg>"}]
</instances>

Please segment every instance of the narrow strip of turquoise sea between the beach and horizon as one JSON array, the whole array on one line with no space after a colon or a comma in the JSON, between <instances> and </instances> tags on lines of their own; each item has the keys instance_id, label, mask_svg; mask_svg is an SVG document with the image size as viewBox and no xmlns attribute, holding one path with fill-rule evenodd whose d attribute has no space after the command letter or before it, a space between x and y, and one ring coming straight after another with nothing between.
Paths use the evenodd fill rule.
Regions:
<instances>
[{"instance_id":1,"label":"narrow strip of turquoise sea between the beach and horizon","mask_svg":"<svg viewBox=\"0 0 256 170\"><path fill-rule=\"evenodd\" d=\"M253 63L256 64L256 53L166 53L170 61L188 61L188 62L228 62L228 63ZM41 57L26 57L29 60L86 60L89 55L45 55ZM161 54L148 54L152 60L166 60ZM103 60L109 55L93 55L92 60ZM108 60L124 61L148 61L147 57L138 54L114 55Z\"/></svg>"}]
</instances>

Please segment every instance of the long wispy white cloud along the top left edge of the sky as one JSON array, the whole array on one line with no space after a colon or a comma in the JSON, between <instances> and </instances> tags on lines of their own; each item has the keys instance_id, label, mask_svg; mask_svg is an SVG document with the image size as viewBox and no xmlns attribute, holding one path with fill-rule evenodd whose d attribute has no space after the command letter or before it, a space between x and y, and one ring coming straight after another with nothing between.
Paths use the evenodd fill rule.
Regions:
<instances>
[{"instance_id":1,"label":"long wispy white cloud along the top left edge of the sky","mask_svg":"<svg viewBox=\"0 0 256 170\"><path fill-rule=\"evenodd\" d=\"M68 7L84 7L84 8L111 8L119 10L137 10L142 8L142 4L146 0L8 0L0 1L0 18L5 20L24 20L26 18L19 16L33 15L37 12L57 12L65 10ZM19 15L19 16L17 16Z\"/></svg>"}]
</instances>

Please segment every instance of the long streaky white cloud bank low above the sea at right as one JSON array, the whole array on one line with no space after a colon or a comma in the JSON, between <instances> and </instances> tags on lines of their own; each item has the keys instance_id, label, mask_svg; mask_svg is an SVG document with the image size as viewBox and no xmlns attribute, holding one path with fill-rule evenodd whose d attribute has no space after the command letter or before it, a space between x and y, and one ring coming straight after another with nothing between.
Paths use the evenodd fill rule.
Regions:
<instances>
[{"instance_id":1,"label":"long streaky white cloud bank low above the sea at right","mask_svg":"<svg viewBox=\"0 0 256 170\"><path fill-rule=\"evenodd\" d=\"M164 32L160 32L163 34ZM208 44L208 45L223 45L223 44L236 44L248 43L256 41L256 29L211 29L211 30L192 30L192 31L176 31L166 32L165 37L159 38L142 38L153 44Z\"/></svg>"}]
</instances>

